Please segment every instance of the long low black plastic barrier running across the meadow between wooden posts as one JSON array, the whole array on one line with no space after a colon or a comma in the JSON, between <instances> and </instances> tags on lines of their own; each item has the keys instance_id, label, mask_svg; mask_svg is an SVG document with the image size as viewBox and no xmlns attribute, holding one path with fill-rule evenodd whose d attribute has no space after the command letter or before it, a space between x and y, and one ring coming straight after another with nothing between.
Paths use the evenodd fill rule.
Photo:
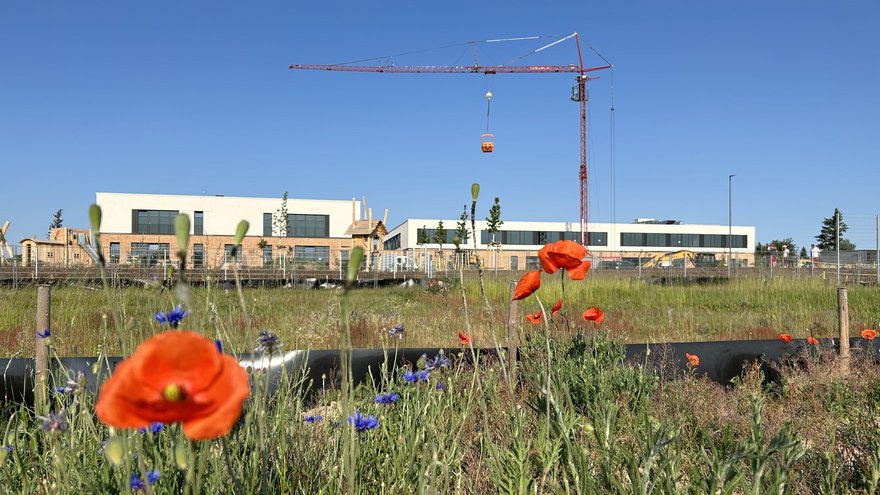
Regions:
<instances>
[{"instance_id":1,"label":"long low black plastic barrier running across the meadow between wooden posts","mask_svg":"<svg viewBox=\"0 0 880 495\"><path fill-rule=\"evenodd\" d=\"M739 377L749 363L758 363L765 374L772 375L772 363L780 362L788 356L798 359L812 349L837 352L837 339L820 339L818 346L809 345L806 340L783 342L773 340L731 340L715 342L671 342L660 344L627 344L625 361L634 365L645 365L649 368L664 371L672 367L678 371L685 369L688 363L685 353L699 356L700 364L695 368L699 375L708 379L730 384ZM502 348L503 349L503 348ZM853 355L870 352L877 360L877 351L873 345L859 337L850 339ZM427 355L436 356L441 351L436 347L406 349L354 349L352 350L352 377L355 385L368 379L380 380L383 366L386 369L394 366L415 364L418 359ZM445 349L447 356L457 354L457 349ZM482 356L496 354L496 349L476 349ZM469 350L464 351L464 358L470 359ZM300 376L305 383L311 384L314 392L322 386L334 387L339 383L338 363L339 351L335 349L313 351L288 351L272 356L261 354L242 354L238 356L241 364L250 374L265 376L270 391L276 390L286 376ZM94 357L66 357L53 361L51 370L51 386L63 387L68 380L81 381L85 387L95 392L100 383L122 360L111 357L98 360ZM771 365L768 367L768 365ZM27 358L0 358L2 371L3 402L25 403L32 405L34 401L34 360ZM265 374L263 375L263 371ZM82 375L80 375L82 374ZM773 379L773 376L768 376Z\"/></svg>"}]
</instances>

